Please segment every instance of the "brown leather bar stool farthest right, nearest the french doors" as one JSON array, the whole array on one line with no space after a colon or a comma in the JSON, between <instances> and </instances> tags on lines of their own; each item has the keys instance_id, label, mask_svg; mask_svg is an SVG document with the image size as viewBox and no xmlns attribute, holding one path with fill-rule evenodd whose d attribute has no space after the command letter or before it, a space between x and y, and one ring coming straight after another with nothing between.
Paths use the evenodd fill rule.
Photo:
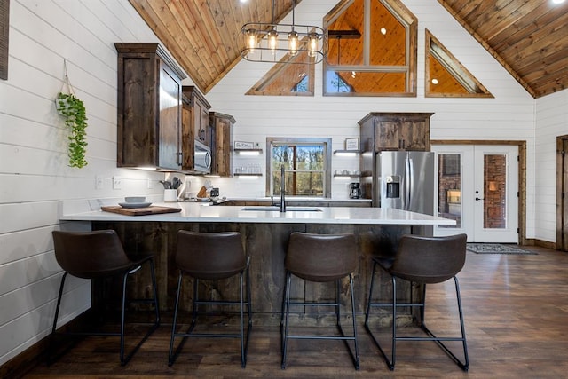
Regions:
<instances>
[{"instance_id":1,"label":"brown leather bar stool farthest right, nearest the french doors","mask_svg":"<svg viewBox=\"0 0 568 379\"><path fill-rule=\"evenodd\" d=\"M457 234L447 237L421 237L416 235L402 236L398 242L398 249L394 258L373 258L373 276L371 277L371 287L369 290L369 298L367 302L367 312L365 315L365 328L373 337L375 344L381 351L384 360L390 370L394 370L396 361L396 347L398 341L434 341L438 346L446 351L454 362L463 369L468 371L469 358L468 346L465 337L465 327L463 324L463 312L461 311L461 296L458 279L455 275L461 272L465 264L466 255L466 234ZM375 283L375 272L377 265L388 272L392 280L392 301L387 303L373 302L373 286ZM435 336L429 328L426 328L424 322L424 309L426 303L426 285L432 283L441 283L454 278L455 292L457 296L458 312L460 317L461 336L454 337L438 337ZM422 301L419 303L410 302L398 303L396 291L397 280L408 280L414 283L422 284ZM369 314L371 309L375 307L388 307L392 310L392 346L390 359L383 351L377 338L369 327ZM397 335L397 308L398 307L420 307L421 325L420 327L427 336L398 336ZM461 362L452 351L450 351L444 342L459 341L463 344L464 361Z\"/></svg>"}]
</instances>

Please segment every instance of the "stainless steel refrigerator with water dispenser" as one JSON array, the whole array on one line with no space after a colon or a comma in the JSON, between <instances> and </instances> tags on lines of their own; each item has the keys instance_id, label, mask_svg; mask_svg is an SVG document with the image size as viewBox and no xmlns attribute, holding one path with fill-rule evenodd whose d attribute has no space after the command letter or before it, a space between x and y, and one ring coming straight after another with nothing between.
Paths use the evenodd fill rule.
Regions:
<instances>
[{"instance_id":1,"label":"stainless steel refrigerator with water dispenser","mask_svg":"<svg viewBox=\"0 0 568 379\"><path fill-rule=\"evenodd\" d=\"M434 153L383 151L376 154L375 207L434 215Z\"/></svg>"}]
</instances>

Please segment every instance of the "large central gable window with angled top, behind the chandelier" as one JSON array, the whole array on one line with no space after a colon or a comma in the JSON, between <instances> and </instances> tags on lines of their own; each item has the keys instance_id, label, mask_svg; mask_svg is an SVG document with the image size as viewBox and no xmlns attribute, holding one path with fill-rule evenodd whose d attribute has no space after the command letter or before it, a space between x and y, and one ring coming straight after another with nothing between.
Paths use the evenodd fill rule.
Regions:
<instances>
[{"instance_id":1,"label":"large central gable window with angled top, behind the chandelier","mask_svg":"<svg viewBox=\"0 0 568 379\"><path fill-rule=\"evenodd\" d=\"M343 0L324 17L326 96L416 96L418 20L396 0Z\"/></svg>"}]
</instances>

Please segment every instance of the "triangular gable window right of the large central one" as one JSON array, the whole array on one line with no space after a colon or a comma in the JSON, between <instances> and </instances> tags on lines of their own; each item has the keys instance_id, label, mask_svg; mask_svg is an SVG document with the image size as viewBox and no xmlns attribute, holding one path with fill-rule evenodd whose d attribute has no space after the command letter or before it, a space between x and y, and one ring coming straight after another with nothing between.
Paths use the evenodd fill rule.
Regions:
<instances>
[{"instance_id":1,"label":"triangular gable window right of the large central one","mask_svg":"<svg viewBox=\"0 0 568 379\"><path fill-rule=\"evenodd\" d=\"M493 98L483 84L426 29L427 98Z\"/></svg>"}]
</instances>

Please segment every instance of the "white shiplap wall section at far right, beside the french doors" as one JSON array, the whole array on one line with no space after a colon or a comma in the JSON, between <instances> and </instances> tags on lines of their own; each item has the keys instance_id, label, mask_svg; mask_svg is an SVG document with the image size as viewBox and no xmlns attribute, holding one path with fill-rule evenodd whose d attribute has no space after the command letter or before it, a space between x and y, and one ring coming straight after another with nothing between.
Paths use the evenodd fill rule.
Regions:
<instances>
[{"instance_id":1,"label":"white shiplap wall section at far right, beside the french doors","mask_svg":"<svg viewBox=\"0 0 568 379\"><path fill-rule=\"evenodd\" d=\"M568 90L536 100L535 236L556 241L556 137L568 135Z\"/></svg>"}]
</instances>

